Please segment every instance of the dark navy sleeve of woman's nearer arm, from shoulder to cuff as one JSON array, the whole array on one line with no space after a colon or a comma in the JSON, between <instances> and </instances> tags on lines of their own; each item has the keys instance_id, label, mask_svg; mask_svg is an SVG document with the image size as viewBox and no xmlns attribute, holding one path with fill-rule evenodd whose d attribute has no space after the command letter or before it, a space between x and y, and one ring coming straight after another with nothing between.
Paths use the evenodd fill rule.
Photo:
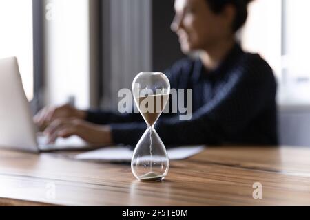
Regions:
<instances>
[{"instance_id":1,"label":"dark navy sleeve of woman's nearer arm, from shoulder to cuff","mask_svg":"<svg viewBox=\"0 0 310 220\"><path fill-rule=\"evenodd\" d=\"M177 76L181 69L172 72ZM177 77L176 77L177 78ZM276 144L264 129L248 132L253 120L272 106L276 83L272 69L258 55L246 56L223 80L222 89L203 107L195 111L192 120L180 121L178 116L160 118L156 131L167 145ZM267 124L266 124L267 125ZM136 144L145 131L145 123L112 124L114 142Z\"/></svg>"}]
</instances>

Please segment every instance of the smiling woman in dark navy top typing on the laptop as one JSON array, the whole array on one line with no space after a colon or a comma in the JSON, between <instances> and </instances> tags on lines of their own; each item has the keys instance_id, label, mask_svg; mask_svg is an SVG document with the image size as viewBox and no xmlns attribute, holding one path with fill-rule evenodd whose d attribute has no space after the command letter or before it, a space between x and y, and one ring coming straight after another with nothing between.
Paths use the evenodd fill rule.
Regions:
<instances>
[{"instance_id":1,"label":"smiling woman in dark navy top typing on the laptop","mask_svg":"<svg viewBox=\"0 0 310 220\"><path fill-rule=\"evenodd\" d=\"M277 144L276 80L258 54L244 52L236 32L249 0L176 0L172 30L185 54L167 74L174 89L193 89L192 120L161 117L156 131L170 144ZM79 135L94 144L136 144L146 129L138 113L45 108L35 118L50 142Z\"/></svg>"}]
</instances>

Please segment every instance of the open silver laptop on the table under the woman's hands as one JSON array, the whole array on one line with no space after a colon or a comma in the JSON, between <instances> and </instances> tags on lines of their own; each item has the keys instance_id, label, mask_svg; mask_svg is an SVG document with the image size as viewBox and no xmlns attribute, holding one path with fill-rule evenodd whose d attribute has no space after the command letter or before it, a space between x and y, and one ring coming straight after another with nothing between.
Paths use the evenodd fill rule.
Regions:
<instances>
[{"instance_id":1,"label":"open silver laptop on the table under the woman's hands","mask_svg":"<svg viewBox=\"0 0 310 220\"><path fill-rule=\"evenodd\" d=\"M77 136L58 138L46 144L47 137L38 135L30 104L25 96L17 58L0 60L0 148L39 153L41 151L80 151L98 148Z\"/></svg>"}]
</instances>

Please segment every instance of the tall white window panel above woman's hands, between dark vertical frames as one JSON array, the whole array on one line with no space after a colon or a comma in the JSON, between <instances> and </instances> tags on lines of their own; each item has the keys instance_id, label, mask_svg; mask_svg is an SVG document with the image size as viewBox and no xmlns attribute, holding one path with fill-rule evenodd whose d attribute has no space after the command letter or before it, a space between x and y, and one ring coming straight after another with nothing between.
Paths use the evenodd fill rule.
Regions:
<instances>
[{"instance_id":1,"label":"tall white window panel above woman's hands, between dark vertical frames","mask_svg":"<svg viewBox=\"0 0 310 220\"><path fill-rule=\"evenodd\" d=\"M88 0L50 0L44 4L46 104L90 106Z\"/></svg>"}]
</instances>

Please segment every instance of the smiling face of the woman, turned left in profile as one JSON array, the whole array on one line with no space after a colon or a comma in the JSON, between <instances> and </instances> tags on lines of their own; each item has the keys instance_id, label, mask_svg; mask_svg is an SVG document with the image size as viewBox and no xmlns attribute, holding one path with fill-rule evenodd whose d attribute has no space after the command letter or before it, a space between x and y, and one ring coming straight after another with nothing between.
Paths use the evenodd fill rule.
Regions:
<instances>
[{"instance_id":1,"label":"smiling face of the woman, turned left in profile","mask_svg":"<svg viewBox=\"0 0 310 220\"><path fill-rule=\"evenodd\" d=\"M210 45L233 34L229 13L215 14L206 0L175 0L174 10L176 14L171 28L178 35L185 54L207 50Z\"/></svg>"}]
</instances>

